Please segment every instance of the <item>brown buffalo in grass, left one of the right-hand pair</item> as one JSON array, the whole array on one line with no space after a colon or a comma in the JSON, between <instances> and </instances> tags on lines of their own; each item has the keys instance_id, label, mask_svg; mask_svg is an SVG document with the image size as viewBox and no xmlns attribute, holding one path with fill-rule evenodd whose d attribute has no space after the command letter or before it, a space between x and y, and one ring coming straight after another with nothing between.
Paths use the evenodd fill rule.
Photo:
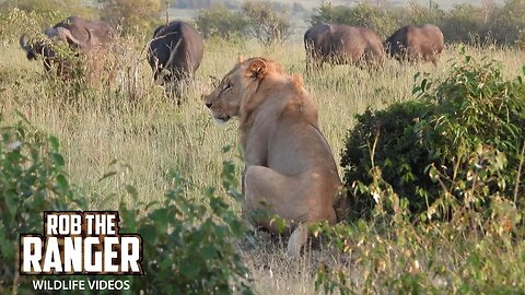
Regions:
<instances>
[{"instance_id":1,"label":"brown buffalo in grass, left one of the right-hand pair","mask_svg":"<svg viewBox=\"0 0 525 295\"><path fill-rule=\"evenodd\" d=\"M316 25L304 33L306 70L319 69L323 62L381 66L385 49L371 28L348 25Z\"/></svg>"}]
</instances>

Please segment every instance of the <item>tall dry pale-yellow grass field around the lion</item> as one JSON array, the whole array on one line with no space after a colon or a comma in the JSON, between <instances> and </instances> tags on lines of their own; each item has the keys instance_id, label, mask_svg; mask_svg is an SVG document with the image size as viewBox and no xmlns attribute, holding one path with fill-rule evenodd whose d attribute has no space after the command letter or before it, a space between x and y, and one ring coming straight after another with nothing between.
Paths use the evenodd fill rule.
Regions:
<instances>
[{"instance_id":1,"label":"tall dry pale-yellow grass field around the lion","mask_svg":"<svg viewBox=\"0 0 525 295\"><path fill-rule=\"evenodd\" d=\"M243 165L235 153L221 152L225 145L237 145L237 123L215 126L201 101L201 95L210 90L209 75L222 76L240 55L270 57L282 63L289 73L302 74L304 71L305 55L300 43L262 48L254 42L242 45L207 42L196 82L178 106L151 81L150 69L140 49L137 46L130 50L126 63L128 72L133 72L137 67L135 86L129 86L128 79L112 87L75 91L71 85L49 80L42 63L27 61L16 44L0 47L2 123L19 120L15 114L20 111L38 129L56 134L61 140L71 182L79 185L94 210L115 209L126 196L125 185L137 188L139 200L161 200L172 185L171 173L177 173L196 185L188 194L198 202L202 196L200 188L220 187L223 161L233 160L238 174ZM467 52L476 58L487 56L501 61L509 76L515 75L525 64L523 51L514 49L467 48ZM413 74L422 71L443 76L453 62L450 60L457 55L458 47L450 45L436 67L400 67L388 61L384 69L368 72L350 66L331 68L325 64L322 73L305 76L305 87L317 103L320 129L336 162L340 160L345 135L352 128L355 114L368 107L380 109L395 102L412 99ZM121 78L129 76L124 74ZM112 164L114 160L116 164ZM117 172L114 177L100 181L113 170ZM240 210L238 203L230 202ZM338 262L338 258L323 247L299 262L292 261L283 255L282 243L264 234L257 238L259 248L242 247L242 251L261 294L315 294L317 264ZM392 255L395 252L385 253L385 259L394 261L396 258ZM460 252L451 255L450 259L460 260ZM415 261L423 259L418 255L415 253ZM459 263L457 260L455 263ZM349 267L348 271L359 291L360 281L355 278L370 270ZM368 292L386 293L387 286Z\"/></svg>"}]
</instances>

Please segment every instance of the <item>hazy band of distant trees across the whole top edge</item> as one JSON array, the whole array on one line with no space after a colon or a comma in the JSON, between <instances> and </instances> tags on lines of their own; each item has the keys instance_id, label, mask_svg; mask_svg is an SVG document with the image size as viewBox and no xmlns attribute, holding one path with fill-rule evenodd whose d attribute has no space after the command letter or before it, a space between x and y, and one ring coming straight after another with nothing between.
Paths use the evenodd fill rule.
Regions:
<instances>
[{"instance_id":1,"label":"hazy band of distant trees across the whole top edge","mask_svg":"<svg viewBox=\"0 0 525 295\"><path fill-rule=\"evenodd\" d=\"M58 14L75 14L91 20L102 19L117 25L124 33L149 33L160 23L165 9L161 0L96 0L95 3L97 5L91 7L81 0L4 0L0 2L0 32L14 34L20 31L19 22L11 20L16 19L20 11L26 11L44 17L42 23L46 25L52 23L46 19L55 21ZM247 13L247 5L257 9ZM266 35L282 40L293 31L304 33L294 30L293 20L296 19L307 20L312 25L366 26L384 38L405 25L432 23L443 31L446 43L525 48L525 0L505 0L503 3L486 0L480 5L456 4L450 10L441 9L433 1L429 1L429 5L411 1L407 7L392 7L388 1L362 1L353 5L323 3L313 12L299 1L284 3L278 0L173 0L171 8L200 10L195 22L205 37L252 35L260 38ZM249 20L247 14L252 15Z\"/></svg>"}]
</instances>

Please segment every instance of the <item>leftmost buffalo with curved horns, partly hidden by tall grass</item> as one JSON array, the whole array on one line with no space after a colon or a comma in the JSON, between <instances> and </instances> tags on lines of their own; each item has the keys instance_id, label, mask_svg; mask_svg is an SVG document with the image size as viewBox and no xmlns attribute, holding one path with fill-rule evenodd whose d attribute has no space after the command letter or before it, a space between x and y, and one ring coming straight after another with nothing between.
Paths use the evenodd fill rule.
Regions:
<instances>
[{"instance_id":1,"label":"leftmost buffalo with curved horns, partly hidden by tall grass","mask_svg":"<svg viewBox=\"0 0 525 295\"><path fill-rule=\"evenodd\" d=\"M46 70L49 71L54 64L58 64L59 74L66 74L65 68L70 64L57 52L56 45L68 44L77 55L86 55L95 48L108 44L115 36L115 32L108 24L91 22L78 16L70 16L55 26L46 28L44 34L48 39L37 42L28 42L27 36L23 34L20 37L20 45L25 50L28 60L42 56Z\"/></svg>"}]
</instances>

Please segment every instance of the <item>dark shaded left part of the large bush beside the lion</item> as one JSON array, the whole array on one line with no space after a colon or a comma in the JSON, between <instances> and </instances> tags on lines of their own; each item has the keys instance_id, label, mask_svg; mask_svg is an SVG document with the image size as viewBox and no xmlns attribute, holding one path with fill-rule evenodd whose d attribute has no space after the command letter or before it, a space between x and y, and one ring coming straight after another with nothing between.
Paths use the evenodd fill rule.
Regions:
<instances>
[{"instance_id":1,"label":"dark shaded left part of the large bush beside the lion","mask_svg":"<svg viewBox=\"0 0 525 295\"><path fill-rule=\"evenodd\" d=\"M355 127L348 133L341 166L345 167L345 182L357 186L358 192L349 191L349 216L366 216L374 208L374 199L363 197L364 189L372 181L371 170L377 166L382 177L401 196L407 196L413 212L427 209L419 201L420 188L434 191L434 185L425 173L429 163L436 160L430 150L423 146L419 122L428 119L433 106L425 102L407 102L392 105L387 109L357 115ZM368 215L370 216L370 215Z\"/></svg>"}]
</instances>

